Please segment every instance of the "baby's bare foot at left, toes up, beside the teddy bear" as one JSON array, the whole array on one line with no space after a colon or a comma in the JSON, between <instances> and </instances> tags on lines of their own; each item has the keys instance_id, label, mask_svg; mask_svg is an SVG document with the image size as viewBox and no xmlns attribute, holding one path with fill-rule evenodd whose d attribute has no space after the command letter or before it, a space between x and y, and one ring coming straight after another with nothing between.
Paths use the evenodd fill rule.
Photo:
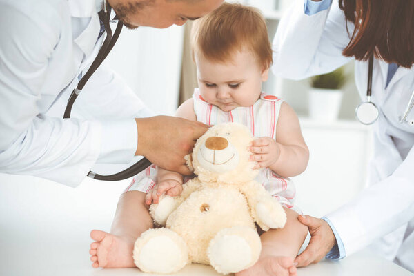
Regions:
<instances>
[{"instance_id":1,"label":"baby's bare foot at left, toes up, beside the teddy bear","mask_svg":"<svg viewBox=\"0 0 414 276\"><path fill-rule=\"evenodd\" d=\"M135 267L132 259L134 240L115 236L101 230L92 230L90 237L96 242L90 244L90 260L94 268Z\"/></svg>"}]
</instances>

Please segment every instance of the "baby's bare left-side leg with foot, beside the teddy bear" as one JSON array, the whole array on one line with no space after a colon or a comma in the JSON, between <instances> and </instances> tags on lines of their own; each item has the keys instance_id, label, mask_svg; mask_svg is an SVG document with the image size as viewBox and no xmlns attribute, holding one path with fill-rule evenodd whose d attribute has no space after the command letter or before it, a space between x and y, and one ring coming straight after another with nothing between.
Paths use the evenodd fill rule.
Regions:
<instances>
[{"instance_id":1,"label":"baby's bare left-side leg with foot, beside the teddy bear","mask_svg":"<svg viewBox=\"0 0 414 276\"><path fill-rule=\"evenodd\" d=\"M144 204L145 193L130 191L121 195L110 233L92 230L90 260L94 268L135 267L132 250L135 240L152 228L152 219Z\"/></svg>"}]
</instances>

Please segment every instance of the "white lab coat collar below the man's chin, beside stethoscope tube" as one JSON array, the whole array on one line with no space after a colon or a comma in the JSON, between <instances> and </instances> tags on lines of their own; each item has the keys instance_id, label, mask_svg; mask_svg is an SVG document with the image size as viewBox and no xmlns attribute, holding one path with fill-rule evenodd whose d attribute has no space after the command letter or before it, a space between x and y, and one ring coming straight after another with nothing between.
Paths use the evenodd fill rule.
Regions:
<instances>
[{"instance_id":1,"label":"white lab coat collar below the man's chin, beside stethoscope tube","mask_svg":"<svg viewBox=\"0 0 414 276\"><path fill-rule=\"evenodd\" d=\"M101 3L102 0L68 0L72 17L90 17L88 26L73 40L86 57L92 53L101 28L98 17Z\"/></svg>"}]
</instances>

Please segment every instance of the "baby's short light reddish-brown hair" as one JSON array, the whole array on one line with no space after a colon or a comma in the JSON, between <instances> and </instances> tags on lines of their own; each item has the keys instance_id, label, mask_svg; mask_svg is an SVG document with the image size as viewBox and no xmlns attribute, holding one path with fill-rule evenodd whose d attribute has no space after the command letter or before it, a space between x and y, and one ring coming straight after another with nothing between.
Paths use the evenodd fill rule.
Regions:
<instances>
[{"instance_id":1,"label":"baby's short light reddish-brown hair","mask_svg":"<svg viewBox=\"0 0 414 276\"><path fill-rule=\"evenodd\" d=\"M263 70L273 62L266 21L257 8L223 3L193 24L195 52L212 61L230 61L236 51L249 50Z\"/></svg>"}]
</instances>

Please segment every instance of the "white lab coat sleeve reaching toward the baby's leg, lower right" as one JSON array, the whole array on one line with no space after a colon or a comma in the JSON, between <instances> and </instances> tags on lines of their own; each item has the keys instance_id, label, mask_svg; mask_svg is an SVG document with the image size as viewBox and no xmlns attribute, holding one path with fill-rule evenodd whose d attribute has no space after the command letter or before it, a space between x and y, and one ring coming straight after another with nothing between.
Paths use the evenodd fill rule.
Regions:
<instances>
[{"instance_id":1,"label":"white lab coat sleeve reaching toward the baby's leg, lower right","mask_svg":"<svg viewBox=\"0 0 414 276\"><path fill-rule=\"evenodd\" d=\"M413 219L413 165L411 148L392 175L326 216L339 233L347 256Z\"/></svg>"}]
</instances>

